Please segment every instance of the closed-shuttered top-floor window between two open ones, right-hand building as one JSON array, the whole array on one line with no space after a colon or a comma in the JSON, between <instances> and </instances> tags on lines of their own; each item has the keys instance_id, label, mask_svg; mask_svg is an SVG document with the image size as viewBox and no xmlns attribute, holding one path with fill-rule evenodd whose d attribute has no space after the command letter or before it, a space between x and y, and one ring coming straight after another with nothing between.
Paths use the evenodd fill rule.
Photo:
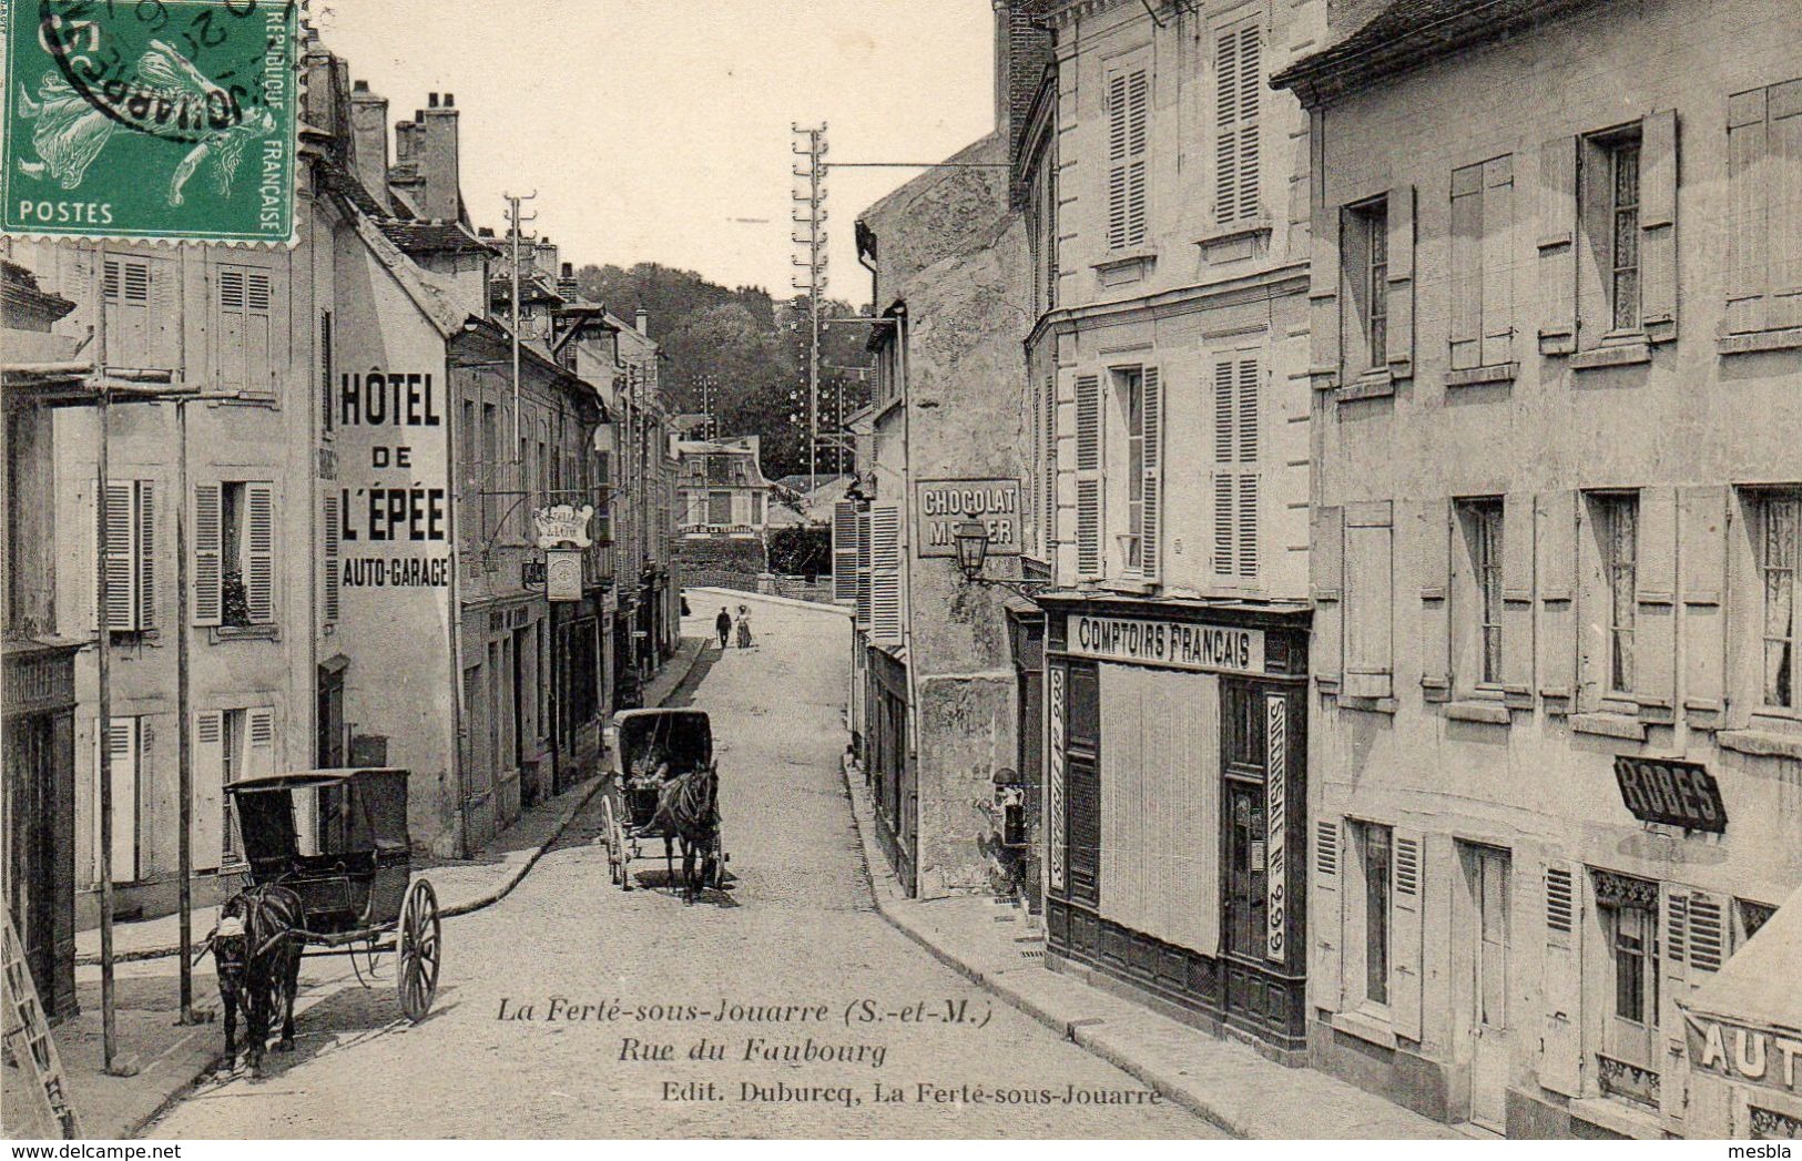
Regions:
<instances>
[{"instance_id":1,"label":"closed-shuttered top-floor window between two open ones, right-hand building","mask_svg":"<svg viewBox=\"0 0 1802 1161\"><path fill-rule=\"evenodd\" d=\"M1514 339L1514 159L1452 169L1451 364L1501 366Z\"/></svg>"}]
</instances>

